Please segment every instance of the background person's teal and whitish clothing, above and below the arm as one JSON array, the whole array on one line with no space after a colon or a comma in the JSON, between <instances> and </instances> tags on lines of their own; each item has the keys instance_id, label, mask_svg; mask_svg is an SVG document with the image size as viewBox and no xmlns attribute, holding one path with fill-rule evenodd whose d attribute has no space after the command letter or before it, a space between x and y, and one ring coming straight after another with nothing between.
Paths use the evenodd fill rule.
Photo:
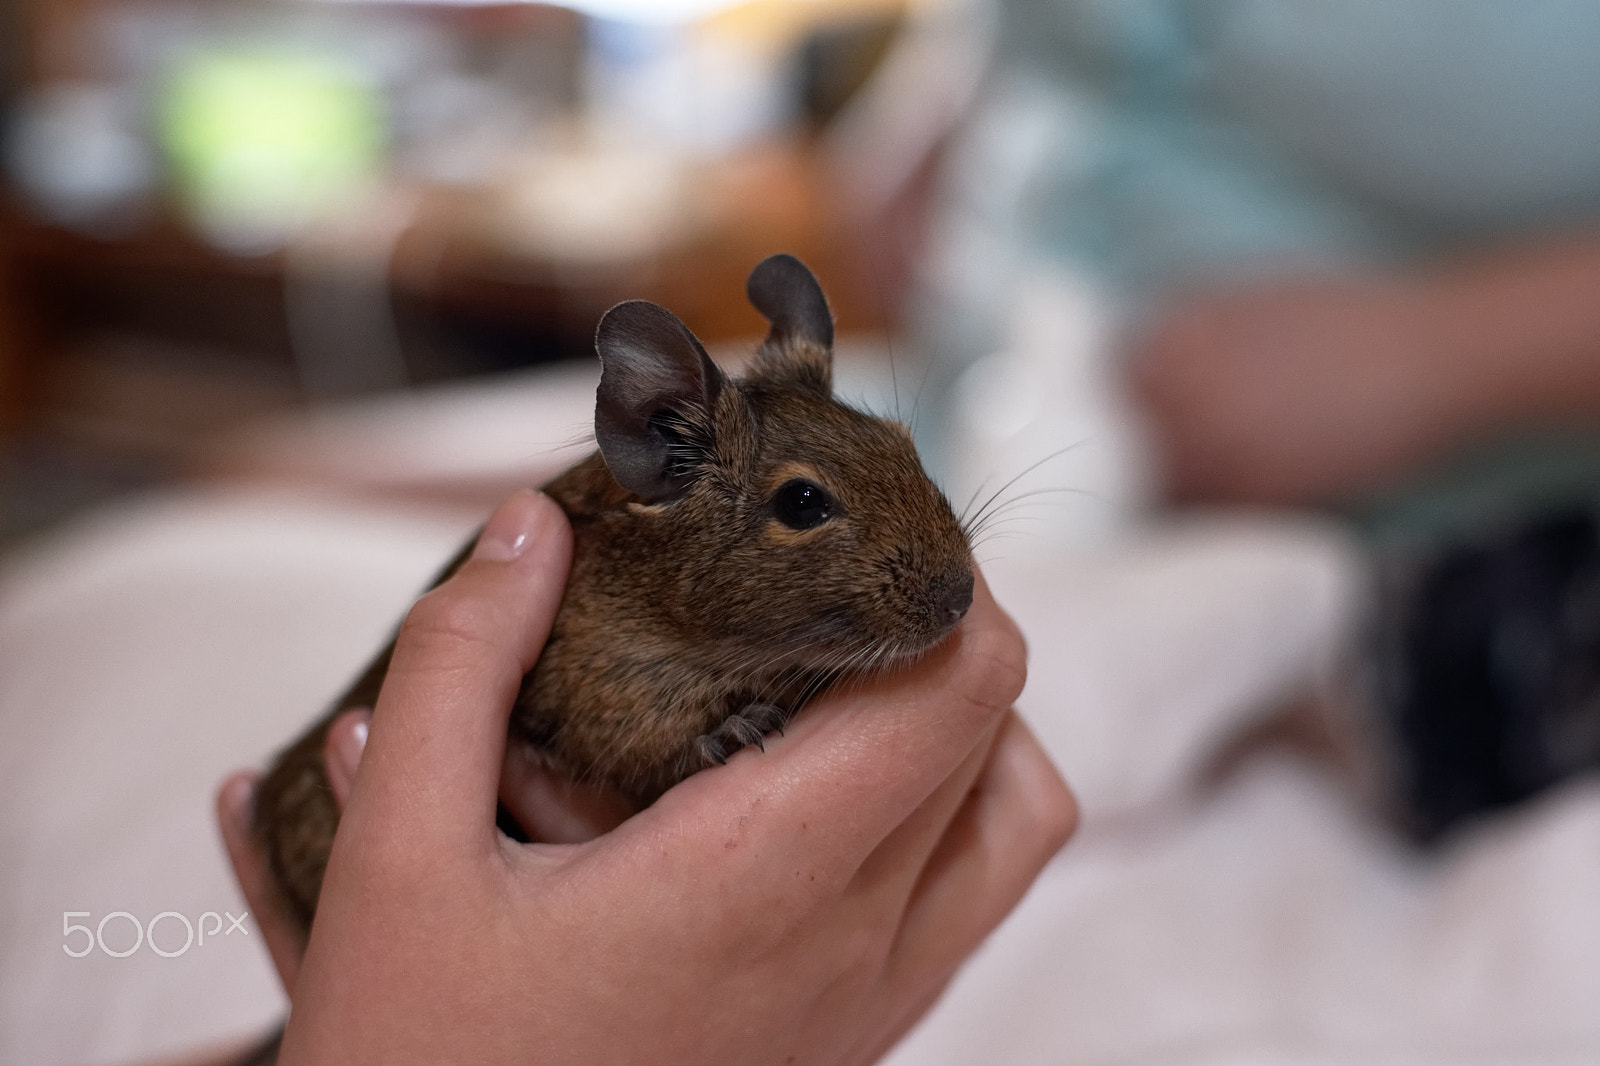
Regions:
<instances>
[{"instance_id":1,"label":"background person's teal and whitish clothing, above and below the arm","mask_svg":"<svg viewBox=\"0 0 1600 1066\"><path fill-rule=\"evenodd\" d=\"M1600 221L1600 2L1003 0L1000 14L915 309L936 410L962 367L1008 343L1029 275L1085 279L1130 325L1187 285L1379 271ZM1600 445L1546 437L1360 517L1448 536L1586 495Z\"/></svg>"}]
</instances>

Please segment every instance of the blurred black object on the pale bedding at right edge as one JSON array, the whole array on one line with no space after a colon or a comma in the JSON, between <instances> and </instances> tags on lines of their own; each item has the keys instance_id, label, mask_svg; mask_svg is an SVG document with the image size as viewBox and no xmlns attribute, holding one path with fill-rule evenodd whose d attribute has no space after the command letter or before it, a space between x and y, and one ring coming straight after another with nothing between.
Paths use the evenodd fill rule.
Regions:
<instances>
[{"instance_id":1,"label":"blurred black object on the pale bedding at right edge","mask_svg":"<svg viewBox=\"0 0 1600 1066\"><path fill-rule=\"evenodd\" d=\"M1448 549L1406 586L1386 703L1421 839L1600 767L1600 507Z\"/></svg>"}]
</instances>

